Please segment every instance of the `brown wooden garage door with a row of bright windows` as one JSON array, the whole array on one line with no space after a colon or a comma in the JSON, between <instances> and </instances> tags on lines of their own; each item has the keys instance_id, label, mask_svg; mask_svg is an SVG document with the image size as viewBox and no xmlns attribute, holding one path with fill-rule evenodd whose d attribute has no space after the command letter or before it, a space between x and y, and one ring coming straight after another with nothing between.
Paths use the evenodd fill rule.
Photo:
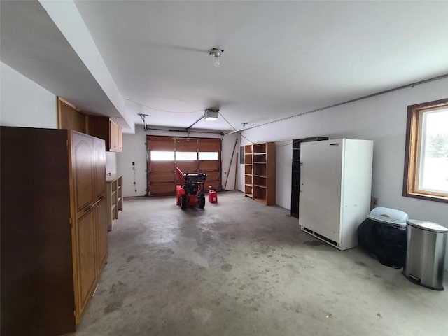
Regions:
<instances>
[{"instance_id":1,"label":"brown wooden garage door with a row of bright windows","mask_svg":"<svg viewBox=\"0 0 448 336\"><path fill-rule=\"evenodd\" d=\"M206 172L205 190L221 190L221 139L148 135L148 190L153 196L176 194L176 167Z\"/></svg>"}]
</instances>

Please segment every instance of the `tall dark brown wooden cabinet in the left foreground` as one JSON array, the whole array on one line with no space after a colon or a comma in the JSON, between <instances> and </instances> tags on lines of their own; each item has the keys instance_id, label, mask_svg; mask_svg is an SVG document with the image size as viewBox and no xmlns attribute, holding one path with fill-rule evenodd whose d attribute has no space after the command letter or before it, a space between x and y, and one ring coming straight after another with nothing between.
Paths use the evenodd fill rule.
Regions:
<instances>
[{"instance_id":1,"label":"tall dark brown wooden cabinet in the left foreground","mask_svg":"<svg viewBox=\"0 0 448 336\"><path fill-rule=\"evenodd\" d=\"M108 254L104 140L0 128L1 335L74 332Z\"/></svg>"}]
</instances>

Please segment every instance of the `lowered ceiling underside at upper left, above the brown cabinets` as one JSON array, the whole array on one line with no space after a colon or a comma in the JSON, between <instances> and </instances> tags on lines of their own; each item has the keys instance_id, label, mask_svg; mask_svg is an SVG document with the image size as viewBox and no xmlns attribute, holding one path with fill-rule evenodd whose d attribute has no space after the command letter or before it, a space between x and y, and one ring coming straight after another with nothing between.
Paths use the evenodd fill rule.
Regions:
<instances>
[{"instance_id":1,"label":"lowered ceiling underside at upper left, above the brown cabinets","mask_svg":"<svg viewBox=\"0 0 448 336\"><path fill-rule=\"evenodd\" d=\"M0 3L1 62L87 113L108 111L120 117L37 1Z\"/></svg>"}]
</instances>

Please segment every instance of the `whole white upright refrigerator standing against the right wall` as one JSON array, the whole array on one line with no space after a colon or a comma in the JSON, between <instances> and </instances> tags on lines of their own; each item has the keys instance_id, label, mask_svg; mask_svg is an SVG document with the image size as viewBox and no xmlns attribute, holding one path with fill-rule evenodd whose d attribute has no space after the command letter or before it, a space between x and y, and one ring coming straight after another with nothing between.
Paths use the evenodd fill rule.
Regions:
<instances>
[{"instance_id":1,"label":"whole white upright refrigerator standing against the right wall","mask_svg":"<svg viewBox=\"0 0 448 336\"><path fill-rule=\"evenodd\" d=\"M346 250L370 211L373 141L336 139L300 147L299 224L304 232Z\"/></svg>"}]
</instances>

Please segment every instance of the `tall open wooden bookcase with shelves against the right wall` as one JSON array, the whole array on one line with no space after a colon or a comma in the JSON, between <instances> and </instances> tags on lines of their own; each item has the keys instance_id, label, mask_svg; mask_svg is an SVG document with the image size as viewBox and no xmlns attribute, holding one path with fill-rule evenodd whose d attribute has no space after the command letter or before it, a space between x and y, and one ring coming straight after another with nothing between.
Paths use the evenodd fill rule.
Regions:
<instances>
[{"instance_id":1,"label":"tall open wooden bookcase with shelves against the right wall","mask_svg":"<svg viewBox=\"0 0 448 336\"><path fill-rule=\"evenodd\" d=\"M244 195L275 204L275 143L244 146Z\"/></svg>"}]
</instances>

